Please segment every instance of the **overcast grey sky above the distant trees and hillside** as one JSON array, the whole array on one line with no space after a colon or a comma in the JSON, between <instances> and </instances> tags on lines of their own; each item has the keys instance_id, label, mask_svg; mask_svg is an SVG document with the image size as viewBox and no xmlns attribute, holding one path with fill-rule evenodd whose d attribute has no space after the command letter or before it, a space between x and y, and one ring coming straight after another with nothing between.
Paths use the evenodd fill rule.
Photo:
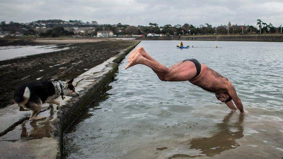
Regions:
<instances>
[{"instance_id":1,"label":"overcast grey sky above the distant trees and hillside","mask_svg":"<svg viewBox=\"0 0 283 159\"><path fill-rule=\"evenodd\" d=\"M129 25L283 24L283 0L0 0L0 21L40 19Z\"/></svg>"}]
</instances>

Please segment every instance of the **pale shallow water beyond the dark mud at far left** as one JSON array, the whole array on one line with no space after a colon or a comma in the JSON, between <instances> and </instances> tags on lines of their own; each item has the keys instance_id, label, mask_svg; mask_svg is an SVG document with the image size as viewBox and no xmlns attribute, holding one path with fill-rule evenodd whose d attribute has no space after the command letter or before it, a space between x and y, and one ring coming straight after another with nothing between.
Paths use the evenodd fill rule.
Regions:
<instances>
[{"instance_id":1,"label":"pale shallow water beyond the dark mud at far left","mask_svg":"<svg viewBox=\"0 0 283 159\"><path fill-rule=\"evenodd\" d=\"M14 59L18 57L43 54L47 52L54 52L60 50L68 50L68 45L40 45L40 46L1 46L0 47L0 61Z\"/></svg>"}]
</instances>

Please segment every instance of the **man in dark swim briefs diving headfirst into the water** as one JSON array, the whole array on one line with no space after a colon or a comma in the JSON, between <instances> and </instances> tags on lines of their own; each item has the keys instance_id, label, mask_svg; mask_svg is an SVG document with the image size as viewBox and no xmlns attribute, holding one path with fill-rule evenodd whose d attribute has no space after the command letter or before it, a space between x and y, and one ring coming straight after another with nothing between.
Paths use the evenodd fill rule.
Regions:
<instances>
[{"instance_id":1,"label":"man in dark swim briefs diving headfirst into the water","mask_svg":"<svg viewBox=\"0 0 283 159\"><path fill-rule=\"evenodd\" d=\"M190 81L206 91L215 93L216 98L230 109L238 108L241 113L244 113L242 102L232 83L196 59L186 59L167 68L153 59L143 47L139 47L130 54L128 62L125 69L142 64L150 67L161 81Z\"/></svg>"}]
</instances>

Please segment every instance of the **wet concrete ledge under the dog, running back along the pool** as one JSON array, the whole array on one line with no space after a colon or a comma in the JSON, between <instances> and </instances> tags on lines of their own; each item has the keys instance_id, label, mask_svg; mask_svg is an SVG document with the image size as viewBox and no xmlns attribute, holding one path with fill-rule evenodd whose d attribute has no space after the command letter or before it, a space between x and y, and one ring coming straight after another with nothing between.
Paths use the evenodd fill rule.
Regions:
<instances>
[{"instance_id":1,"label":"wet concrete ledge under the dog, running back along the pool","mask_svg":"<svg viewBox=\"0 0 283 159\"><path fill-rule=\"evenodd\" d=\"M0 109L0 158L61 158L64 131L113 80L118 63L136 45L75 78L73 84L80 96L58 97L61 107L57 111L44 104L39 116L46 116L45 120L29 121L31 112L20 112L17 105Z\"/></svg>"}]
</instances>

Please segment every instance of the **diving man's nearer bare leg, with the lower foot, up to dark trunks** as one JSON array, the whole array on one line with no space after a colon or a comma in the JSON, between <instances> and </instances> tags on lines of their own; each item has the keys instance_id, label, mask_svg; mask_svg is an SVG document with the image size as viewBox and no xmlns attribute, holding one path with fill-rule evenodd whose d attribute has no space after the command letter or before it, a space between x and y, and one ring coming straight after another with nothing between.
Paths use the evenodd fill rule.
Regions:
<instances>
[{"instance_id":1,"label":"diving man's nearer bare leg, with the lower foot, up to dark trunks","mask_svg":"<svg viewBox=\"0 0 283 159\"><path fill-rule=\"evenodd\" d=\"M190 61L179 63L172 70L170 70L161 63L157 61L151 61L139 53L135 55L125 69L136 64L143 64L150 67L158 76L160 76L160 79L163 81L188 81L196 74L195 65Z\"/></svg>"}]
</instances>

